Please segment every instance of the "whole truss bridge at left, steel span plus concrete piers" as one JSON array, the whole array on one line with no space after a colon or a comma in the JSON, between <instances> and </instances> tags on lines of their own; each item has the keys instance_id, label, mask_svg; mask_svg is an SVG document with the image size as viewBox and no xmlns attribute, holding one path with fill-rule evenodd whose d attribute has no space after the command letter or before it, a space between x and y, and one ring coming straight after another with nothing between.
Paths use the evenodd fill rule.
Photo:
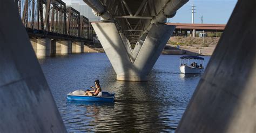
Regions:
<instances>
[{"instance_id":1,"label":"whole truss bridge at left, steel span plus concrete piers","mask_svg":"<svg viewBox=\"0 0 256 133\"><path fill-rule=\"evenodd\" d=\"M15 0L37 56L82 53L92 42L91 22L60 0Z\"/></svg>"}]
</instances>

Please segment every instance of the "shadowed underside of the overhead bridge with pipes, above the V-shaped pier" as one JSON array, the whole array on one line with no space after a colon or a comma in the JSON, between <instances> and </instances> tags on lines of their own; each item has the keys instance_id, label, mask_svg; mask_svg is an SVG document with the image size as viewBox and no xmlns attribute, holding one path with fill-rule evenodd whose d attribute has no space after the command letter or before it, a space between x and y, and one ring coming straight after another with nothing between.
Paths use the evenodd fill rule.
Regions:
<instances>
[{"instance_id":1,"label":"shadowed underside of the overhead bridge with pipes, above the V-shaped pier","mask_svg":"<svg viewBox=\"0 0 256 133\"><path fill-rule=\"evenodd\" d=\"M165 23L188 0L84 0L105 21L112 21L117 29L135 45L153 24Z\"/></svg>"}]
</instances>

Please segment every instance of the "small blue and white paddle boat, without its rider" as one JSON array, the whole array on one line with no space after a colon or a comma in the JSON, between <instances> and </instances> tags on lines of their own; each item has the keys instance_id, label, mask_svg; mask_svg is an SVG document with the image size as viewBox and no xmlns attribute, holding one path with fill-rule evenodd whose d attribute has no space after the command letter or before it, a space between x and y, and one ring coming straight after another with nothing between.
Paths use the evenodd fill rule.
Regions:
<instances>
[{"instance_id":1,"label":"small blue and white paddle boat, without its rider","mask_svg":"<svg viewBox=\"0 0 256 133\"><path fill-rule=\"evenodd\" d=\"M84 90L76 90L66 95L70 101L96 101L96 102L114 102L114 93L101 92L98 96L84 95Z\"/></svg>"}]
</instances>

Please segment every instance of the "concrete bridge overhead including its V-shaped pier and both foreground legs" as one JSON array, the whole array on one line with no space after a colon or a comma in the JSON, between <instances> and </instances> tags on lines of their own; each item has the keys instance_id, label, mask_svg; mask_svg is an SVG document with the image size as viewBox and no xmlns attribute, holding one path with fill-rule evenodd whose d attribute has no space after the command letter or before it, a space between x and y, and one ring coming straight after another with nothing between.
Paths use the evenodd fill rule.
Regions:
<instances>
[{"instance_id":1,"label":"concrete bridge overhead including its V-shaped pier and both foreground legs","mask_svg":"<svg viewBox=\"0 0 256 133\"><path fill-rule=\"evenodd\" d=\"M92 26L119 79L144 79L174 29L162 22L185 2L86 1L104 18ZM176 132L256 132L255 6L238 1ZM2 0L0 9L0 132L66 132L17 3ZM138 54L126 49L131 36Z\"/></svg>"}]
</instances>

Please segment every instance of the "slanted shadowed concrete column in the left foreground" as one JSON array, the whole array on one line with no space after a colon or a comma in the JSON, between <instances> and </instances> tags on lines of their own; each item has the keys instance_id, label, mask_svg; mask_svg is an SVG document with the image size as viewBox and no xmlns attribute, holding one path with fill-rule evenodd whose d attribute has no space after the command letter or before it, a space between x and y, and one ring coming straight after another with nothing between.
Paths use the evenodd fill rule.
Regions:
<instances>
[{"instance_id":1,"label":"slanted shadowed concrete column in the left foreground","mask_svg":"<svg viewBox=\"0 0 256 133\"><path fill-rule=\"evenodd\" d=\"M0 3L0 132L66 132L17 5Z\"/></svg>"}]
</instances>

